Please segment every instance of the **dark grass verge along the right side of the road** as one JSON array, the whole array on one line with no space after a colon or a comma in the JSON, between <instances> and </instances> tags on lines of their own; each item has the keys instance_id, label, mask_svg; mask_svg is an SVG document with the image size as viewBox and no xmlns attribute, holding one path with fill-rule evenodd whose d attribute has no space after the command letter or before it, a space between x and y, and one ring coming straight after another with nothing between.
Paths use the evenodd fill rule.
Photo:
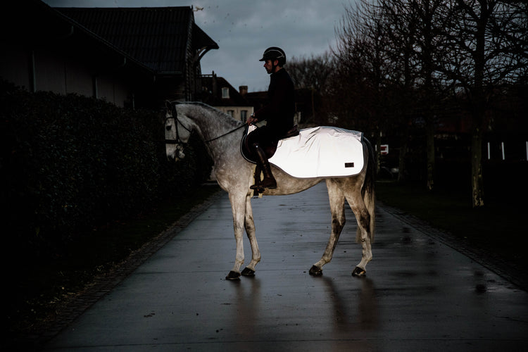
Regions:
<instances>
[{"instance_id":1,"label":"dark grass verge along the right side of the road","mask_svg":"<svg viewBox=\"0 0 528 352\"><path fill-rule=\"evenodd\" d=\"M500 256L517 268L528 268L524 250L527 206L520 194L489 192L483 208L472 208L470 191L436 189L417 184L377 182L377 199L449 232L476 249ZM525 272L525 271L524 271Z\"/></svg>"}]
</instances>

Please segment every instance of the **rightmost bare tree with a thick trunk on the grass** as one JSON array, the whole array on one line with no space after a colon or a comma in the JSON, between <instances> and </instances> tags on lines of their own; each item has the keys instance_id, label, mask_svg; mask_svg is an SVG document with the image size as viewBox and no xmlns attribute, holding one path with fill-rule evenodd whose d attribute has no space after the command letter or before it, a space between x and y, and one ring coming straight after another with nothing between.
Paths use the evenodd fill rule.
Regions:
<instances>
[{"instance_id":1,"label":"rightmost bare tree with a thick trunk on the grass","mask_svg":"<svg viewBox=\"0 0 528 352\"><path fill-rule=\"evenodd\" d=\"M523 11L524 10L524 11ZM472 205L484 206L482 142L489 129L489 106L500 87L526 72L526 6L518 1L450 0L444 16L453 26L444 33L439 69L453 82L472 117Z\"/></svg>"}]
</instances>

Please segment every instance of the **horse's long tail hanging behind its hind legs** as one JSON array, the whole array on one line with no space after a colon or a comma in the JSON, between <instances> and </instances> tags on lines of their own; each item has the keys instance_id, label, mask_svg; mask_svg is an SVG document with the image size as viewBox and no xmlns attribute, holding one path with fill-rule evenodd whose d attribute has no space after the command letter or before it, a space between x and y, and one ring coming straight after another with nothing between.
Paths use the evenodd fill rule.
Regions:
<instances>
[{"instance_id":1,"label":"horse's long tail hanging behind its hind legs","mask_svg":"<svg viewBox=\"0 0 528 352\"><path fill-rule=\"evenodd\" d=\"M370 215L370 224L369 224L369 237L370 237L370 243L374 241L374 231L376 227L376 215L375 215L375 207L376 207L376 193L375 193L375 184L376 184L376 162L375 162L375 154L374 149L372 149L372 144L370 144L369 140L363 137L363 146L364 149L366 149L365 153L368 154L367 156L367 170L365 174L365 182L363 182L363 188L361 189L361 195L363 196L363 201L365 202L365 206L367 207L367 211ZM363 153L363 155L365 155ZM361 233L358 227L358 231L356 232L356 241L361 241Z\"/></svg>"}]
</instances>

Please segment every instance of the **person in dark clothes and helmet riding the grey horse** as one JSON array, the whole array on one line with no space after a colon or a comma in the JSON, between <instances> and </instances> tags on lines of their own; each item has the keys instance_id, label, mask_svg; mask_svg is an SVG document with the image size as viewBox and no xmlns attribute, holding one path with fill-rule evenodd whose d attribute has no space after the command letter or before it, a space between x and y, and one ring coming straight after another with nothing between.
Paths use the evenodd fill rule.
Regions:
<instances>
[{"instance_id":1,"label":"person in dark clothes and helmet riding the grey horse","mask_svg":"<svg viewBox=\"0 0 528 352\"><path fill-rule=\"evenodd\" d=\"M260 61L264 61L264 68L270 74L268 87L268 105L260 108L248 119L248 125L266 120L266 125L257 128L248 135L248 144L257 156L257 163L263 171L264 179L260 184L264 188L277 188L275 177L271 173L268 156L263 145L277 142L294 127L295 98L294 82L282 68L286 63L286 54L280 48L272 46L264 51ZM253 184L251 189L257 189Z\"/></svg>"}]
</instances>

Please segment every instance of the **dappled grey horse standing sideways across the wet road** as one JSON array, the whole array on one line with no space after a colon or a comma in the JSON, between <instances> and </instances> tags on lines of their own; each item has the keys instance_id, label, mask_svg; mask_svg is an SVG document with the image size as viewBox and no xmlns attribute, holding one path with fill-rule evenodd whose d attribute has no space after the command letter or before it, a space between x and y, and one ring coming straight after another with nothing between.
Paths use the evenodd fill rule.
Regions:
<instances>
[{"instance_id":1,"label":"dappled grey horse standing sideways across the wet road","mask_svg":"<svg viewBox=\"0 0 528 352\"><path fill-rule=\"evenodd\" d=\"M260 251L251 208L253 190L249 188L254 180L254 164L241 154L241 133L234 133L247 125L205 103L167 101L165 106L167 157L175 161L182 158L184 156L183 145L189 141L191 132L196 132L213 159L213 172L218 184L229 195L237 253L234 266L226 279L239 279L241 275L254 276L256 265L260 262ZM309 270L310 275L322 275L323 265L332 260L339 235L345 225L345 200L356 216L358 222L356 241L363 249L360 263L352 271L352 276L365 276L366 265L372 260L371 245L375 231L375 161L370 142L363 137L361 143L365 163L357 175L296 178L275 165L271 166L272 173L277 180L277 188L265 189L263 196L295 194L323 180L326 182L332 212L332 230L322 257ZM251 244L252 256L250 263L241 271L241 266L244 264L244 230Z\"/></svg>"}]
</instances>

